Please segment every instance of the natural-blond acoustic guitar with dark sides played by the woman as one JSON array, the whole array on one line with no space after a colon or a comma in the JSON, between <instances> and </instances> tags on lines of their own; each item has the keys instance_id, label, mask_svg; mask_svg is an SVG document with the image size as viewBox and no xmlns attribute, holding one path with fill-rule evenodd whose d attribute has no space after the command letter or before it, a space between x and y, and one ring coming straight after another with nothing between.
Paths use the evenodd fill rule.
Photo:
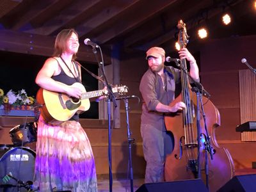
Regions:
<instances>
[{"instance_id":1,"label":"natural-blond acoustic guitar with dark sides played by the woman","mask_svg":"<svg viewBox=\"0 0 256 192\"><path fill-rule=\"evenodd\" d=\"M70 97L65 93L51 92L40 88L36 94L37 102L42 106L41 115L50 124L60 124L69 120L75 113L83 113L90 108L90 98L108 95L108 90L95 90L86 92L83 84L74 83L71 86L80 88L83 93L81 99ZM124 95L127 86L113 86L112 92Z\"/></svg>"}]
</instances>

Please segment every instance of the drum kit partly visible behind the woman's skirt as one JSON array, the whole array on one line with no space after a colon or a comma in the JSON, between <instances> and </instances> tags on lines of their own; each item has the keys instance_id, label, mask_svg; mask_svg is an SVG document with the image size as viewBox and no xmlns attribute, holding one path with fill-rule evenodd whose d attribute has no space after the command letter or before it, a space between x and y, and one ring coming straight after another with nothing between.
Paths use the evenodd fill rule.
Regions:
<instances>
[{"instance_id":1,"label":"drum kit partly visible behind the woman's skirt","mask_svg":"<svg viewBox=\"0 0 256 192\"><path fill-rule=\"evenodd\" d=\"M0 145L0 191L32 191L36 132L36 122L17 125L9 132L13 145Z\"/></svg>"}]
</instances>

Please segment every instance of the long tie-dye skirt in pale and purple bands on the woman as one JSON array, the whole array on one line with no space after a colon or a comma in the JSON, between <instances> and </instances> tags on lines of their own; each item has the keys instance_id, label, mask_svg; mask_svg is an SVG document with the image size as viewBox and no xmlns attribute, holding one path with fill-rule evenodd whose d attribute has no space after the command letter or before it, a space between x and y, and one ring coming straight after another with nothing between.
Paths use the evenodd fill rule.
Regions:
<instances>
[{"instance_id":1,"label":"long tie-dye skirt in pale and purple bands on the woman","mask_svg":"<svg viewBox=\"0 0 256 192\"><path fill-rule=\"evenodd\" d=\"M38 191L97 191L90 141L76 121L38 120L34 187Z\"/></svg>"}]
</instances>

